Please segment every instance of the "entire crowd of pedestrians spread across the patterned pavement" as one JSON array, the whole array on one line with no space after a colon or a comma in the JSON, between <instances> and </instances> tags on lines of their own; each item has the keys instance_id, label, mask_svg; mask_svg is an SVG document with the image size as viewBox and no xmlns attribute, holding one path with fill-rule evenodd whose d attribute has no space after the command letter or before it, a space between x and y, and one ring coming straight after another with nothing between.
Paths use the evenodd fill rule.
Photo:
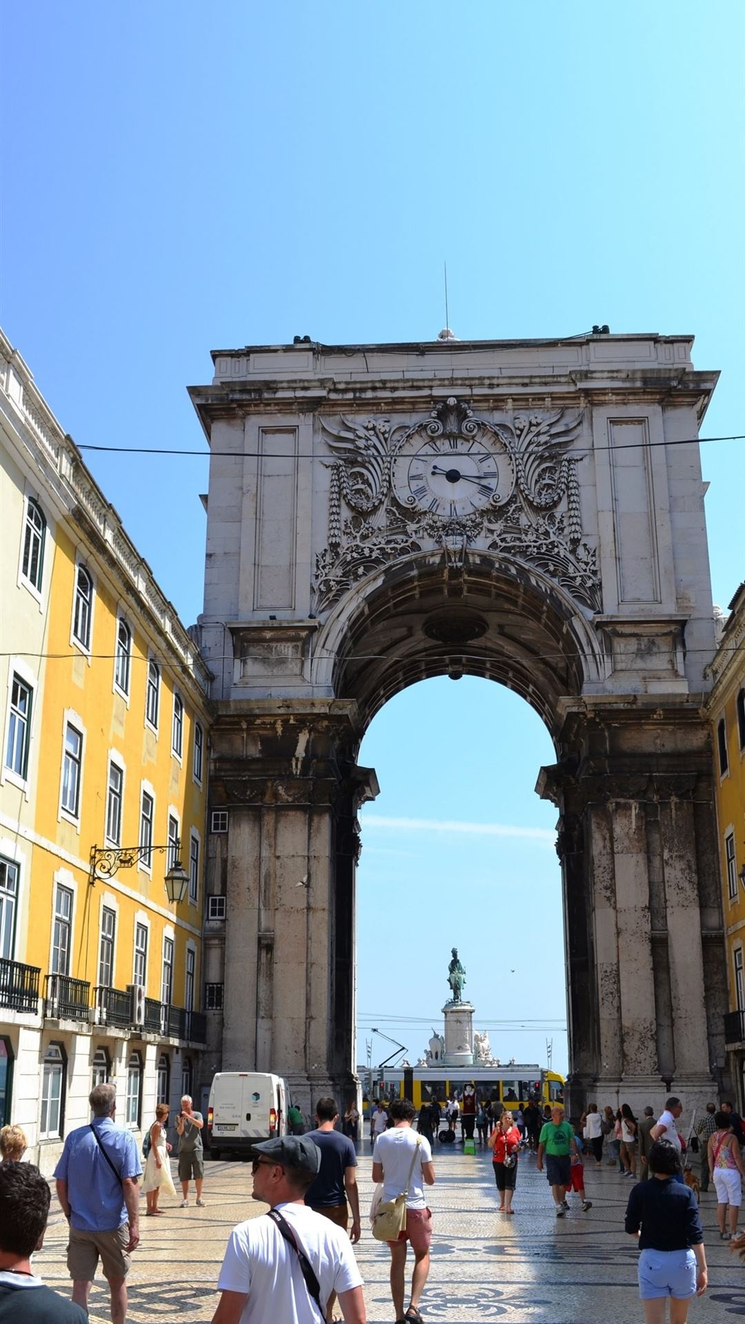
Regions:
<instances>
[{"instance_id":1,"label":"entire crowd of pedestrians spread across the patterned pavement","mask_svg":"<svg viewBox=\"0 0 745 1324\"><path fill-rule=\"evenodd\" d=\"M465 1103L465 1100L461 1100ZM110 1317L125 1324L126 1278L139 1245L141 1158L131 1132L115 1124L115 1088L97 1086L90 1095L93 1119L65 1140L54 1177L57 1197L69 1223L68 1268L72 1301L46 1288L30 1264L44 1241L49 1214L49 1184L32 1164L23 1162L27 1137L20 1127L0 1131L0 1324L81 1324L98 1263L109 1283ZM624 1226L638 1239L639 1295L647 1324L663 1324L669 1300L671 1324L684 1324L693 1296L707 1288L708 1270L697 1193L713 1184L717 1225L722 1241L737 1233L742 1196L742 1119L730 1103L711 1103L701 1117L680 1131L683 1104L671 1096L655 1116L650 1106L636 1119L628 1104L602 1111L591 1103L573 1125L563 1106L521 1108L483 1104L476 1092L463 1111L448 1100L424 1103L419 1116L407 1099L378 1104L371 1113L372 1235L386 1241L396 1324L420 1324L420 1301L430 1272L432 1213L427 1188L435 1184L432 1145L448 1143L459 1116L465 1143L479 1140L492 1151L498 1211L514 1215L520 1162L536 1155L546 1172L555 1217L570 1211L569 1196L582 1213L593 1201L585 1192L585 1157L606 1162L632 1180ZM416 1128L414 1121L416 1119ZM170 1172L168 1108L159 1104L146 1135L143 1189L147 1215L162 1213L162 1190L176 1196ZM289 1119L288 1119L289 1120ZM302 1115L301 1115L302 1120ZM362 1221L357 1186L357 1106L339 1116L331 1098L317 1102L315 1127L278 1136L253 1147L253 1198L269 1205L266 1218L239 1223L228 1241L217 1279L220 1300L212 1324L318 1324L338 1307L347 1324L365 1324L362 1276L354 1246ZM182 1099L176 1116L178 1174L182 1207L194 1181L201 1198L204 1164L203 1119L192 1100ZM443 1129L440 1129L443 1128ZM452 1140L449 1141L452 1143ZM691 1155L700 1160L700 1178ZM635 1178L639 1178L636 1181ZM273 1226L270 1226L273 1225ZM734 1242L745 1250L745 1237ZM407 1255L412 1253L407 1283ZM407 1290L408 1288L408 1290ZM407 1304L408 1300L408 1304Z\"/></svg>"}]
</instances>

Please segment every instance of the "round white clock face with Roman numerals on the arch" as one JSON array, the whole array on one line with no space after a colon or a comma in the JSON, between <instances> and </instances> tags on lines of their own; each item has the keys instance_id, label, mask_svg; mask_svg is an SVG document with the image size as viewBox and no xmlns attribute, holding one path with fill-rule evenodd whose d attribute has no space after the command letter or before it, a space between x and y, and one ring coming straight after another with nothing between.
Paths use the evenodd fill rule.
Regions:
<instances>
[{"instance_id":1,"label":"round white clock face with Roman numerals on the arch","mask_svg":"<svg viewBox=\"0 0 745 1324\"><path fill-rule=\"evenodd\" d=\"M509 500L514 470L497 436L444 433L423 441L419 434L407 438L395 457L392 487L407 510L463 519Z\"/></svg>"}]
</instances>

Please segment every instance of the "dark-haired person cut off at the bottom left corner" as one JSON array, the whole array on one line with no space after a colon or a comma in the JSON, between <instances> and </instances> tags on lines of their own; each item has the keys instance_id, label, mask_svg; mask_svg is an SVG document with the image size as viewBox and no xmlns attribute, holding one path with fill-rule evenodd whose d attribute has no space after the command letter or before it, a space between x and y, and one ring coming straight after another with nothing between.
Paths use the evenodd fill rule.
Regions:
<instances>
[{"instance_id":1,"label":"dark-haired person cut off at the bottom left corner","mask_svg":"<svg viewBox=\"0 0 745 1324\"><path fill-rule=\"evenodd\" d=\"M34 1274L30 1256L46 1230L49 1184L29 1162L0 1164L0 1324L87 1324Z\"/></svg>"}]
</instances>

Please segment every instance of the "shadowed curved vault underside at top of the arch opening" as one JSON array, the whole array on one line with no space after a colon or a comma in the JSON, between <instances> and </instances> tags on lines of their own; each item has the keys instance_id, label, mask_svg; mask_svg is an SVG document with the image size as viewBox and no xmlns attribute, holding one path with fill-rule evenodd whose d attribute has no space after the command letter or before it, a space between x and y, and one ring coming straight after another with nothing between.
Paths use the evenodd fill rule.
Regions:
<instances>
[{"instance_id":1,"label":"shadowed curved vault underside at top of the arch opening","mask_svg":"<svg viewBox=\"0 0 745 1324\"><path fill-rule=\"evenodd\" d=\"M362 727L399 690L479 675L514 690L557 736L562 696L604 674L587 617L540 573L490 555L449 569L408 557L349 593L314 650L314 681L355 699Z\"/></svg>"}]
</instances>

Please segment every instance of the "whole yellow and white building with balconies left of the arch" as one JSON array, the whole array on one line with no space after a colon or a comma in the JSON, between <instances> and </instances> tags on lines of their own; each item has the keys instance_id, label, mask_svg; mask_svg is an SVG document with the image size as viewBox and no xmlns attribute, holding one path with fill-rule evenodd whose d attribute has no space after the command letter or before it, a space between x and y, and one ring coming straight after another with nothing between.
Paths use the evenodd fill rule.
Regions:
<instances>
[{"instance_id":1,"label":"whole yellow and white building with balconies left of the arch","mask_svg":"<svg viewBox=\"0 0 745 1324\"><path fill-rule=\"evenodd\" d=\"M99 1080L200 1103L209 677L4 338L0 432L0 1123L50 1172Z\"/></svg>"}]
</instances>

